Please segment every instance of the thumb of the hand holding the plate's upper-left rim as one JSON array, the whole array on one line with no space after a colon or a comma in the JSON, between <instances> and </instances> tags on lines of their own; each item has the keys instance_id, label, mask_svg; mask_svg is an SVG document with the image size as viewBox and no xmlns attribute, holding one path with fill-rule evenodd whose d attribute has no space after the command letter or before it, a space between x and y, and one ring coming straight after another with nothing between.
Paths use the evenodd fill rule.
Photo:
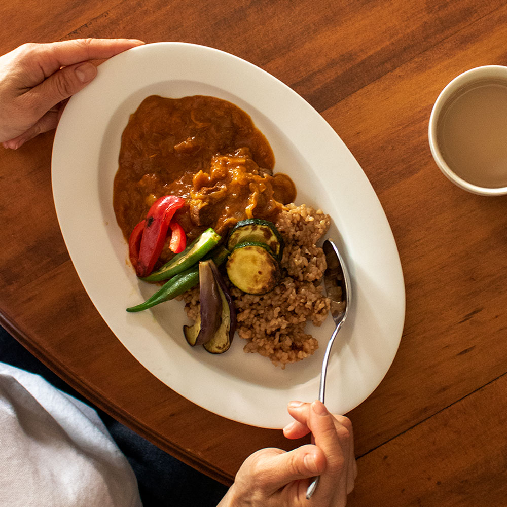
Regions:
<instances>
[{"instance_id":1,"label":"thumb of the hand holding the plate's upper-left rim","mask_svg":"<svg viewBox=\"0 0 507 507\"><path fill-rule=\"evenodd\" d=\"M79 92L97 75L97 67L91 62L69 65L57 70L27 94L34 110L42 117L54 105Z\"/></svg>"}]
</instances>

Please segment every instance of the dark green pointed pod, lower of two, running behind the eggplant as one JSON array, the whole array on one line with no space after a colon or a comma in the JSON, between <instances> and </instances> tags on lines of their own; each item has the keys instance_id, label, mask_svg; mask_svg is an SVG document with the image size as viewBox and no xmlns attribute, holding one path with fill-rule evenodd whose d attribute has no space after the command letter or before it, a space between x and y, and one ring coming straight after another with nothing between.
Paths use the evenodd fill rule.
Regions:
<instances>
[{"instance_id":1,"label":"dark green pointed pod, lower of two, running behind the eggplant","mask_svg":"<svg viewBox=\"0 0 507 507\"><path fill-rule=\"evenodd\" d=\"M218 246L207 253L204 259L213 259L217 266L225 262L229 255L229 250L224 246ZM176 296L187 292L199 283L199 261L191 268L174 275L170 280L166 281L158 291L148 298L144 303L137 306L127 308L128 312L140 312L148 310L159 303L174 299Z\"/></svg>"}]
</instances>

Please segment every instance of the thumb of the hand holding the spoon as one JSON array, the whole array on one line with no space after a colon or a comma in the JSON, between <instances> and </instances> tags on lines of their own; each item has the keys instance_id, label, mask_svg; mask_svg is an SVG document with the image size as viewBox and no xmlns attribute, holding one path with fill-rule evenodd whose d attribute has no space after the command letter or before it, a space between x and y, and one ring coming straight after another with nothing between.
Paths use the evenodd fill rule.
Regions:
<instances>
[{"instance_id":1,"label":"thumb of the hand holding the spoon","mask_svg":"<svg viewBox=\"0 0 507 507\"><path fill-rule=\"evenodd\" d=\"M293 481L322 474L326 463L324 453L310 444L272 456L271 459L270 485L273 491Z\"/></svg>"}]
</instances>

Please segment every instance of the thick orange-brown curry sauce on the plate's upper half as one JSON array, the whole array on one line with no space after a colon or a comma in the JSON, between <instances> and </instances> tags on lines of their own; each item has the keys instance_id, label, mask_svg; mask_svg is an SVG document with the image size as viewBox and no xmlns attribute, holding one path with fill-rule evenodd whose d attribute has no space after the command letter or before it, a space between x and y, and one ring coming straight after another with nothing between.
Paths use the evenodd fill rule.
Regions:
<instances>
[{"instance_id":1,"label":"thick orange-brown curry sauce on the plate's upper half","mask_svg":"<svg viewBox=\"0 0 507 507\"><path fill-rule=\"evenodd\" d=\"M273 175L274 163L264 135L233 103L149 96L122 134L113 191L118 224L128 238L163 195L186 199L175 218L189 240L208 227L224 236L246 218L273 222L296 198L291 178Z\"/></svg>"}]
</instances>

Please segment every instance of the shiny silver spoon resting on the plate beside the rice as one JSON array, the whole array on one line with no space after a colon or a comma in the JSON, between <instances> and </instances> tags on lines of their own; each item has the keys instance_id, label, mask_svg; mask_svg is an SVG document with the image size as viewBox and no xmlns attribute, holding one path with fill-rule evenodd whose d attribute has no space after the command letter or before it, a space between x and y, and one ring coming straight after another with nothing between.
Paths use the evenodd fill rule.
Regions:
<instances>
[{"instance_id":1,"label":"shiny silver spoon resting on the plate beside the rice","mask_svg":"<svg viewBox=\"0 0 507 507\"><path fill-rule=\"evenodd\" d=\"M347 266L343 262L335 243L331 239L327 239L324 241L322 249L324 250L325 260L328 264L327 269L324 271L325 292L331 300L331 316L336 324L335 330L329 339L328 346L325 349L324 359L322 360L322 371L320 373L318 399L324 403L325 374L328 370L329 356L331 354L331 348L333 347L336 335L347 318L350 308L351 292L350 276ZM312 443L314 443L313 437ZM319 478L317 476L313 479L310 486L308 486L308 489L306 490L306 498L308 500L317 489L318 480Z\"/></svg>"}]
</instances>

